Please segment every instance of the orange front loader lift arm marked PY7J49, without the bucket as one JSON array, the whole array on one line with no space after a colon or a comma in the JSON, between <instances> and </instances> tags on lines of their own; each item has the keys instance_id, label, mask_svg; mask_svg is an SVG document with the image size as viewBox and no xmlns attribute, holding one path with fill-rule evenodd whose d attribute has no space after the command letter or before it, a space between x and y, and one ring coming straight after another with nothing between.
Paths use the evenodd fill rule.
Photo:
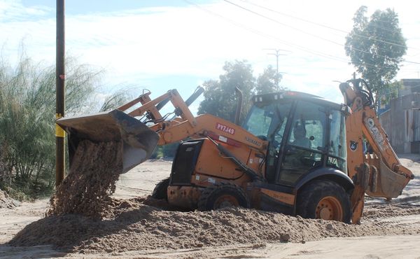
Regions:
<instances>
[{"instance_id":1,"label":"orange front loader lift arm marked PY7J49, without the bucket","mask_svg":"<svg viewBox=\"0 0 420 259\"><path fill-rule=\"evenodd\" d=\"M193 113L188 109L188 106L203 91L204 89L202 87L197 87L197 90L195 90L186 102L183 101L177 90L169 90L167 93L153 100L149 97L150 92L146 92L141 94L137 99L120 106L118 110L127 111L134 105L141 103L140 107L127 114L132 117L141 117L140 120L143 123L152 124L149 127L160 135L158 141L158 145L160 146L172 144L187 137L210 137L216 141L234 146L247 145L258 151L265 150L267 141L262 141L228 120L223 120L210 114L202 114L194 117ZM159 111L168 102L171 102L175 108L173 118L169 119L168 115L172 113L162 116Z\"/></svg>"}]
</instances>

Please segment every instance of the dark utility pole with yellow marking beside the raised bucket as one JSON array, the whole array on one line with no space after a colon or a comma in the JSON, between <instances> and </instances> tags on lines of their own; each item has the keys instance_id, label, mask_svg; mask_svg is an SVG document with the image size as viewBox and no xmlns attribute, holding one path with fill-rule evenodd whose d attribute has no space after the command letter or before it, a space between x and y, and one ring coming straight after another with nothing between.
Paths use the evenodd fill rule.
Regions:
<instances>
[{"instance_id":1,"label":"dark utility pole with yellow marking beside the raised bucket","mask_svg":"<svg viewBox=\"0 0 420 259\"><path fill-rule=\"evenodd\" d=\"M55 119L64 117L64 90L66 71L64 69L64 0L57 0L56 18L56 52L55 52ZM65 156L64 140L66 132L55 124L55 187L57 188L64 179Z\"/></svg>"}]
</instances>

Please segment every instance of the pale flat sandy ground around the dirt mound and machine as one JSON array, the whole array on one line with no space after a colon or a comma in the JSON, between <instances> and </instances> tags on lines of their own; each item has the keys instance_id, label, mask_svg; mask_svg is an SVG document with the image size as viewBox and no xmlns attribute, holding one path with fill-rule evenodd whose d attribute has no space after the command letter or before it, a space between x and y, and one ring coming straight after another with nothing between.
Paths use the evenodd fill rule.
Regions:
<instances>
[{"instance_id":1,"label":"pale flat sandy ground around the dirt mound and machine","mask_svg":"<svg viewBox=\"0 0 420 259\"><path fill-rule=\"evenodd\" d=\"M402 195L391 202L382 199L367 199L366 215L363 218L362 226L344 228L352 231L351 237L345 237L346 233L332 233L331 236L318 235L323 232L325 223L302 221L307 225L306 235L314 235L315 241L299 241L292 239L290 242L280 240L260 241L250 244L230 244L216 242L217 246L200 246L195 248L136 248L127 251L106 252L99 249L98 253L65 253L52 246L8 246L6 243L24 229L30 223L34 223L44 217L48 200L37 200L33 203L24 202L12 209L0 209L0 258L50 258L64 256L68 258L420 258L420 155L400 155L403 165L409 167L416 179L409 183ZM155 183L169 176L171 162L150 161L123 174L117 183L116 193L113 195L118 199L133 199L139 196L151 194ZM138 206L138 204L133 204ZM147 209L147 208L146 208ZM229 211L228 211L229 212ZM256 215L254 211L233 211L234 214ZM165 217L159 218L161 214L177 216L171 212L157 212L152 220L165 221ZM186 214L187 215L187 214ZM201 215L201 214L200 214ZM230 214L227 214L230 216ZM191 216L191 215L190 215ZM202 217L208 214L202 214ZM278 217L279 220L290 221L293 225L299 218L282 218L273 214L258 214L257 216ZM187 217L186 217L187 218ZM181 218L182 221L182 218ZM186 220L187 221L187 220ZM171 221L169 221L171 222ZM160 223L160 228L165 227L165 222ZM317 229L311 227L316 226ZM188 226L188 225L186 225ZM176 226L168 226L176 228ZM329 226L327 226L328 228ZM185 225L184 227L185 228ZM269 228L272 228L270 226ZM311 228L314 233L310 233ZM332 224L332 230L340 228L340 225ZM373 236L364 236L363 228L374 229ZM302 228L304 231L304 228ZM293 233L290 230L290 233ZM267 235L269 232L267 231ZM293 237L293 236L292 236ZM114 235L114 239L123 239L123 235ZM109 241L113 239L104 239ZM128 237L127 237L128 240ZM261 241L263 240L263 241ZM307 239L309 240L309 239ZM311 239L312 240L312 239ZM111 244L112 246L112 244ZM89 248L89 245L86 245ZM83 251L82 251L83 252Z\"/></svg>"}]
</instances>

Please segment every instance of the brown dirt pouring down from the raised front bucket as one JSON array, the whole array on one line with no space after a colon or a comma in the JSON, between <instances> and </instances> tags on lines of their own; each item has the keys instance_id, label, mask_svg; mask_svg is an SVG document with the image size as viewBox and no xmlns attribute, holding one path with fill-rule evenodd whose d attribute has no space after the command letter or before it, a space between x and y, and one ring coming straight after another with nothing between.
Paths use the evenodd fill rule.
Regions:
<instances>
[{"instance_id":1,"label":"brown dirt pouring down from the raised front bucket","mask_svg":"<svg viewBox=\"0 0 420 259\"><path fill-rule=\"evenodd\" d=\"M118 141L81 141L73 156L69 175L51 197L47 216L82 214L102 218L111 204L109 197L123 169Z\"/></svg>"}]
</instances>

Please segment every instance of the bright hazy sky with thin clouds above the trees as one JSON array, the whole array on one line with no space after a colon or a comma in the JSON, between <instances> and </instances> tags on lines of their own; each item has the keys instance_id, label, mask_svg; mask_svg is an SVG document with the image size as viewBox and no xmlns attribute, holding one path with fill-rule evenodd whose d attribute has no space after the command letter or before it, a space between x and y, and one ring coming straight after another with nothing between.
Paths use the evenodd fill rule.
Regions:
<instances>
[{"instance_id":1,"label":"bright hazy sky with thin clouds above the trees","mask_svg":"<svg viewBox=\"0 0 420 259\"><path fill-rule=\"evenodd\" d=\"M0 0L1 55L22 52L55 64L55 0ZM226 61L246 59L258 76L276 66L280 85L343 102L337 81L351 78L346 34L367 6L393 8L407 40L396 79L419 78L420 15L416 1L67 0L66 55L104 69L104 97L123 86L152 97L176 88L184 99L205 80L218 79ZM200 100L199 100L200 102ZM191 109L197 110L198 102Z\"/></svg>"}]
</instances>

